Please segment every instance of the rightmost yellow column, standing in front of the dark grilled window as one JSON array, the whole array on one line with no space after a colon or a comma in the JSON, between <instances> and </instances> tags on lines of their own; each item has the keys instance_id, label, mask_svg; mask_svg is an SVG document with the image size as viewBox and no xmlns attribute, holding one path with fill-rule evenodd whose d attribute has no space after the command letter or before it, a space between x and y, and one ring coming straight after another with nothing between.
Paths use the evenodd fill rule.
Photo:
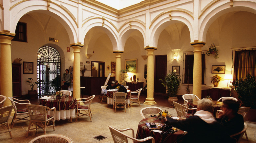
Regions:
<instances>
[{"instance_id":1,"label":"rightmost yellow column, standing in front of the dark grilled window","mask_svg":"<svg viewBox=\"0 0 256 143\"><path fill-rule=\"evenodd\" d=\"M205 42L195 40L190 43L194 47L193 94L201 99L202 95L202 47Z\"/></svg>"}]
</instances>

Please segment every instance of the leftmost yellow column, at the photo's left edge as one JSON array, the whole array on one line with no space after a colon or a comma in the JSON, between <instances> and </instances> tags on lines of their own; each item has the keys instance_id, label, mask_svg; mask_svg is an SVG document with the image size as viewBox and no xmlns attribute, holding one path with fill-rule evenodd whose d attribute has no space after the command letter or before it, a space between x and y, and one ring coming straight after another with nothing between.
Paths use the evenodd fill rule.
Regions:
<instances>
[{"instance_id":1,"label":"leftmost yellow column, at the photo's left edge","mask_svg":"<svg viewBox=\"0 0 256 143\"><path fill-rule=\"evenodd\" d=\"M1 45L1 95L12 97L12 71L11 71L11 40L14 33L0 32ZM5 100L4 106L11 105L10 100Z\"/></svg>"}]
</instances>

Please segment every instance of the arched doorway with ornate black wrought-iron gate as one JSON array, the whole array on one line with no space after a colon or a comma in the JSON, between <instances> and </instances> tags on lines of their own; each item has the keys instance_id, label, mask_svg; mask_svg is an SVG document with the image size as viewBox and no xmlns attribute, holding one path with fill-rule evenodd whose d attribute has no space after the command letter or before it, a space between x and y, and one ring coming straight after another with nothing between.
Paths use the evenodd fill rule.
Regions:
<instances>
[{"instance_id":1,"label":"arched doorway with ornate black wrought-iron gate","mask_svg":"<svg viewBox=\"0 0 256 143\"><path fill-rule=\"evenodd\" d=\"M43 46L37 52L38 95L54 94L60 90L60 55L50 46Z\"/></svg>"}]
</instances>

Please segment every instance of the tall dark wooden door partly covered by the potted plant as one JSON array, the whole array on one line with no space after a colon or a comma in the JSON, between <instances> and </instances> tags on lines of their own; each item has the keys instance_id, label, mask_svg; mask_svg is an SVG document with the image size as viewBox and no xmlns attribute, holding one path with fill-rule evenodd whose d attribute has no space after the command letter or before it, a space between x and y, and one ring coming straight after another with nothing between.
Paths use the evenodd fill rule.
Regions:
<instances>
[{"instance_id":1,"label":"tall dark wooden door partly covered by the potted plant","mask_svg":"<svg viewBox=\"0 0 256 143\"><path fill-rule=\"evenodd\" d=\"M166 93L166 88L161 84L160 78L163 79L163 75L166 75L167 68L167 55L155 56L155 86L154 92Z\"/></svg>"}]
</instances>

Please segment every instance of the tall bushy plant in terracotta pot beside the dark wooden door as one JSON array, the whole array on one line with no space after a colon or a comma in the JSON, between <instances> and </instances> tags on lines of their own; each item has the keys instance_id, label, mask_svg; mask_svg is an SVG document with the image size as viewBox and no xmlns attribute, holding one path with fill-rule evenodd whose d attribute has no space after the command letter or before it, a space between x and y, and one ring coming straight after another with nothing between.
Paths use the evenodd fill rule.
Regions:
<instances>
[{"instance_id":1,"label":"tall bushy plant in terracotta pot beside the dark wooden door","mask_svg":"<svg viewBox=\"0 0 256 143\"><path fill-rule=\"evenodd\" d=\"M168 102L173 107L173 101L178 101L177 92L180 90L181 77L174 71L169 71L168 74L163 75L164 79L159 79L162 85L167 88L167 94L169 96Z\"/></svg>"}]
</instances>

